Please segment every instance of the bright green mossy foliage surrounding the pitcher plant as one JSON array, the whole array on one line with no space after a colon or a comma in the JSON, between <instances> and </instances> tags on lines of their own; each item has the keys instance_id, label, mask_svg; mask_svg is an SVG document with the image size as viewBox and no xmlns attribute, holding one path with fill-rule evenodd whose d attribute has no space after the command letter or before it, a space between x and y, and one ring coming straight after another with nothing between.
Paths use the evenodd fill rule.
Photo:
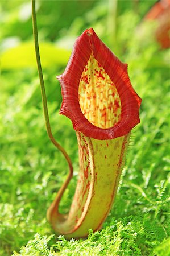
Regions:
<instances>
[{"instance_id":1,"label":"bright green mossy foliage surrounding the pitcher plant","mask_svg":"<svg viewBox=\"0 0 170 256\"><path fill-rule=\"evenodd\" d=\"M74 167L61 212L68 211L76 187L78 148L71 121L59 115L56 75L64 71L77 36L93 27L115 55L128 63L131 83L143 99L141 123L132 133L123 181L103 230L86 241L67 242L49 237L53 230L45 217L68 167L45 131L31 1L0 2L0 255L11 255L13 250L20 250L14 255L170 255L170 52L155 42L157 24L143 22L154 3L37 1L52 131ZM36 233L40 235L34 237Z\"/></svg>"}]
</instances>

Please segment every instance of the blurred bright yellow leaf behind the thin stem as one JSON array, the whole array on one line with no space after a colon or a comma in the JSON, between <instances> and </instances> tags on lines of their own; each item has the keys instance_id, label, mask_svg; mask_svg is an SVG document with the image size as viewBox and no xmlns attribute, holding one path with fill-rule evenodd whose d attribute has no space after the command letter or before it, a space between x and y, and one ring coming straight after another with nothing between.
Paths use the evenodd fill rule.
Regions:
<instances>
[{"instance_id":1,"label":"blurred bright yellow leaf behind the thin stem","mask_svg":"<svg viewBox=\"0 0 170 256\"><path fill-rule=\"evenodd\" d=\"M40 56L43 68L67 64L70 51L55 47L52 43L40 43ZM1 69L36 68L34 43L24 42L3 52L0 58Z\"/></svg>"}]
</instances>

